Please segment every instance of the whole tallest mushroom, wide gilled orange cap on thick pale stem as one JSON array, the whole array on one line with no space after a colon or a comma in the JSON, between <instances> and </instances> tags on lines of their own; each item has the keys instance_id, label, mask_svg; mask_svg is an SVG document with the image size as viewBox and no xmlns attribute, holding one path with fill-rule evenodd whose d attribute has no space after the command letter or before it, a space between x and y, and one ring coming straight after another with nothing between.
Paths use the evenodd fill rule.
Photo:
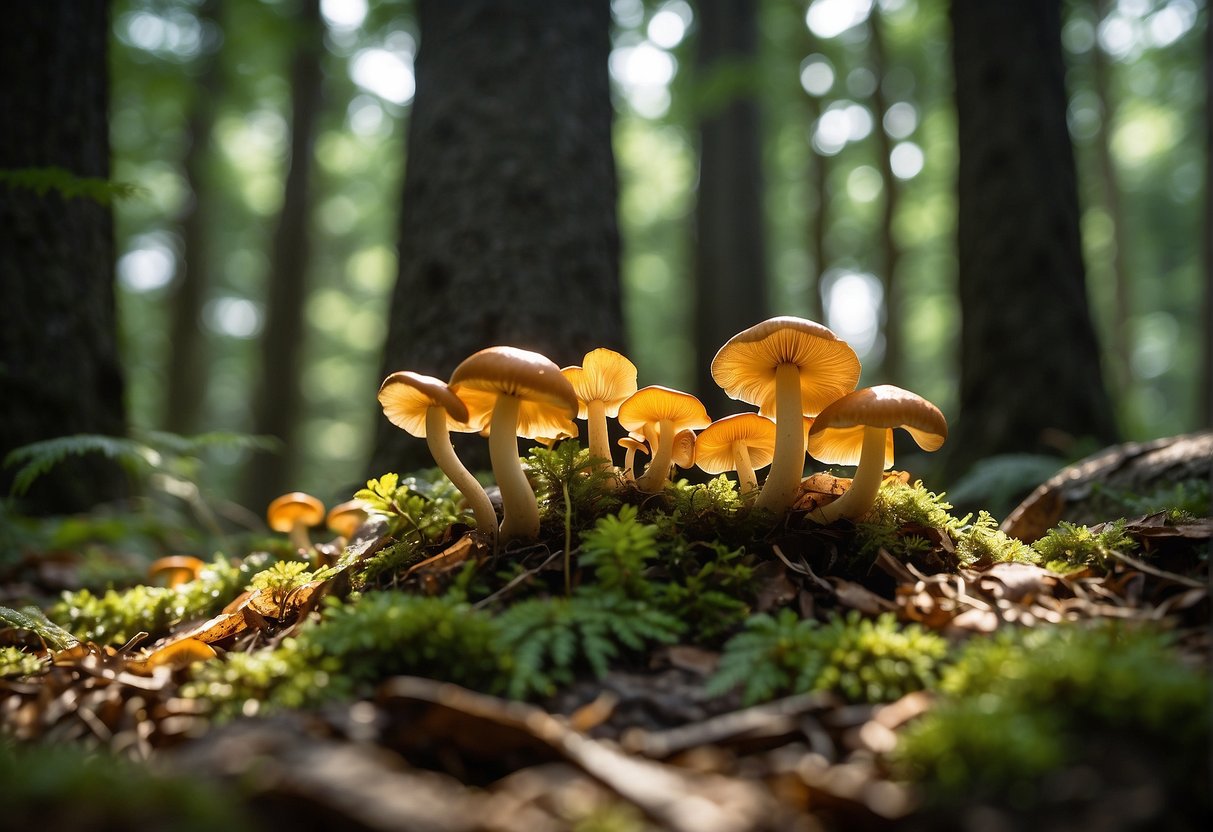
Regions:
<instances>
[{"instance_id":1,"label":"whole tallest mushroom, wide gilled orange cap on thick pale stem","mask_svg":"<svg viewBox=\"0 0 1213 832\"><path fill-rule=\"evenodd\" d=\"M712 378L734 399L775 412L775 456L754 503L787 511L804 475L804 416L855 389L859 358L830 329L771 318L738 332L712 359Z\"/></svg>"}]
</instances>

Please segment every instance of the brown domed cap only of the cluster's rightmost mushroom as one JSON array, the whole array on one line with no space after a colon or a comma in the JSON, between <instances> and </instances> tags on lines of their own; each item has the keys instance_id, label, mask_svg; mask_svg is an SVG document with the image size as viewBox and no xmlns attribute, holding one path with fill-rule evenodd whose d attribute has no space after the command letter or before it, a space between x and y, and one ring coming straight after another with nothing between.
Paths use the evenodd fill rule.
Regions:
<instances>
[{"instance_id":1,"label":"brown domed cap only of the cluster's rightmost mushroom","mask_svg":"<svg viewBox=\"0 0 1213 832\"><path fill-rule=\"evenodd\" d=\"M831 465L858 465L864 428L888 428L884 467L893 465L893 428L904 428L918 448L939 450L947 439L947 420L917 393L877 384L848 393L818 414L809 429L809 455Z\"/></svg>"}]
</instances>

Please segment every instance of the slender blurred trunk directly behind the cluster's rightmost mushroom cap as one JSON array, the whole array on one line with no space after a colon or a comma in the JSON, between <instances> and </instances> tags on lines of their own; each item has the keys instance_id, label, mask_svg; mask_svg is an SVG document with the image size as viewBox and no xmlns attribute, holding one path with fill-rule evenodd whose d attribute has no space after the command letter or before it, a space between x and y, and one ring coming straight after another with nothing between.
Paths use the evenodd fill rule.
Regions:
<instances>
[{"instance_id":1,"label":"slender blurred trunk directly behind the cluster's rightmost mushroom cap","mask_svg":"<svg viewBox=\"0 0 1213 832\"><path fill-rule=\"evenodd\" d=\"M883 205L881 207L881 229L877 269L884 287L884 358L881 360L881 376L893 383L905 383L905 357L901 343L901 284L898 280L898 266L901 250L893 235L893 220L898 213L898 201L901 196L901 183L893 175L893 142L884 130L884 114L889 102L884 97L884 76L889 72L888 51L884 46L884 28L881 11L872 7L867 18L869 63L876 75L876 87L872 90L872 110L876 119L876 152L879 156L881 178L884 182Z\"/></svg>"}]
</instances>

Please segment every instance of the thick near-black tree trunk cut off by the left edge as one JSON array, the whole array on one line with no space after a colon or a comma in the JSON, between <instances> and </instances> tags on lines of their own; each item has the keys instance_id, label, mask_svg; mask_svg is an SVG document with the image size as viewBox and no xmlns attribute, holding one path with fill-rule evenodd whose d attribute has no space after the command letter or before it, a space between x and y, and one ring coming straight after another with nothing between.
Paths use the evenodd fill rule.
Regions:
<instances>
[{"instance_id":1,"label":"thick near-black tree trunk cut off by the left edge","mask_svg":"<svg viewBox=\"0 0 1213 832\"><path fill-rule=\"evenodd\" d=\"M109 177L108 6L45 0L0 25L0 170ZM107 205L0 184L0 458L73 433L126 432ZM0 469L0 496L12 469ZM85 457L56 467L27 507L69 512L121 496L121 472Z\"/></svg>"}]
</instances>

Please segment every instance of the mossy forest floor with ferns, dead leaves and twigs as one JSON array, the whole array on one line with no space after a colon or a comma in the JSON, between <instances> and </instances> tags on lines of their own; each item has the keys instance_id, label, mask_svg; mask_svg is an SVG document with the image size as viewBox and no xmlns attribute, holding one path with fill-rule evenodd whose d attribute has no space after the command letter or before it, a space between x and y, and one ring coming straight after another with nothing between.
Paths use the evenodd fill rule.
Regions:
<instances>
[{"instance_id":1,"label":"mossy forest floor with ferns, dead leaves and twigs","mask_svg":"<svg viewBox=\"0 0 1213 832\"><path fill-rule=\"evenodd\" d=\"M774 523L582 462L497 552L382 478L175 587L0 562L0 828L1207 828L1207 483L1029 545L907 475L822 528L831 477Z\"/></svg>"}]
</instances>

